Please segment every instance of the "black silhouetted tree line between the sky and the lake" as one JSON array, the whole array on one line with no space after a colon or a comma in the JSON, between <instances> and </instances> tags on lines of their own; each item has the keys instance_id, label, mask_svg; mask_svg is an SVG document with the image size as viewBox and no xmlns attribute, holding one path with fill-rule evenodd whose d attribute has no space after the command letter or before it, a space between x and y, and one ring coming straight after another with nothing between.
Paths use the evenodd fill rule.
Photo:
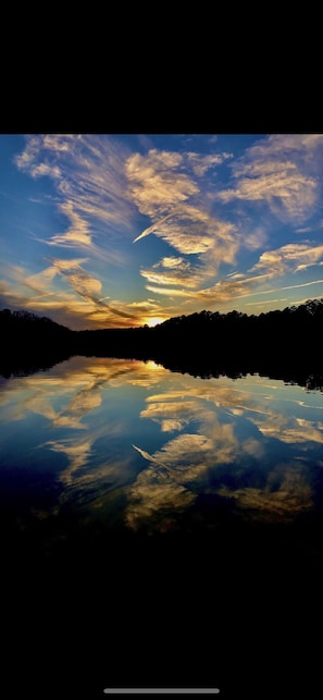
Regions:
<instances>
[{"instance_id":1,"label":"black silhouetted tree line between the sky and the lake","mask_svg":"<svg viewBox=\"0 0 323 700\"><path fill-rule=\"evenodd\" d=\"M323 373L323 298L262 312L200 311L153 328L72 331L29 311L0 311L0 369L47 367L72 355L154 360L200 377L263 373L315 383ZM316 379L314 379L316 378ZM321 379L319 380L321 382Z\"/></svg>"}]
</instances>

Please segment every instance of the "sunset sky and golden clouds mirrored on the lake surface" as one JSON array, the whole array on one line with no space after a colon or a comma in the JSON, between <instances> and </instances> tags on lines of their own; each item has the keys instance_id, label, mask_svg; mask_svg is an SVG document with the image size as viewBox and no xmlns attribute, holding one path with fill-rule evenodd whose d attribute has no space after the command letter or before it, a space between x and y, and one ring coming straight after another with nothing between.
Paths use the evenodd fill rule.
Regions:
<instances>
[{"instance_id":1,"label":"sunset sky and golden clouds mirrored on the lake surface","mask_svg":"<svg viewBox=\"0 0 323 700\"><path fill-rule=\"evenodd\" d=\"M237 518L293 521L320 503L322 408L322 393L259 376L204 380L74 357L2 383L1 487L24 472L36 518L67 506L84 526L99 517L134 532L181 529L184 514L208 527L207 496ZM24 502L18 478L12 498Z\"/></svg>"}]
</instances>

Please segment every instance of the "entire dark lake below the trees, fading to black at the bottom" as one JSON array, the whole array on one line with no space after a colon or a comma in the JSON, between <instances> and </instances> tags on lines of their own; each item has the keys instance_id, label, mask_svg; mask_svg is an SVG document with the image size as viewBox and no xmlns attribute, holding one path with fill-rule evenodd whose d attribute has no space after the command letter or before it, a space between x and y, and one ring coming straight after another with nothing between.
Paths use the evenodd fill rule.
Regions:
<instances>
[{"instance_id":1,"label":"entire dark lake below the trees, fading to black at the bottom","mask_svg":"<svg viewBox=\"0 0 323 700\"><path fill-rule=\"evenodd\" d=\"M3 697L321 697L322 392L74 357L0 414Z\"/></svg>"}]
</instances>

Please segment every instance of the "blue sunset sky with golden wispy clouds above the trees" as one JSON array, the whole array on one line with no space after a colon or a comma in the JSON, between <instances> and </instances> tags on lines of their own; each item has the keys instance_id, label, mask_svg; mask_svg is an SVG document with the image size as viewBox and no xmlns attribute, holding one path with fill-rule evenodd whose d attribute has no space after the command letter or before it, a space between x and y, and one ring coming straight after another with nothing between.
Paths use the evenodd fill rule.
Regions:
<instances>
[{"instance_id":1,"label":"blue sunset sky with golden wispy clouds above the trees","mask_svg":"<svg viewBox=\"0 0 323 700\"><path fill-rule=\"evenodd\" d=\"M71 329L323 297L323 133L0 134L0 309Z\"/></svg>"}]
</instances>

